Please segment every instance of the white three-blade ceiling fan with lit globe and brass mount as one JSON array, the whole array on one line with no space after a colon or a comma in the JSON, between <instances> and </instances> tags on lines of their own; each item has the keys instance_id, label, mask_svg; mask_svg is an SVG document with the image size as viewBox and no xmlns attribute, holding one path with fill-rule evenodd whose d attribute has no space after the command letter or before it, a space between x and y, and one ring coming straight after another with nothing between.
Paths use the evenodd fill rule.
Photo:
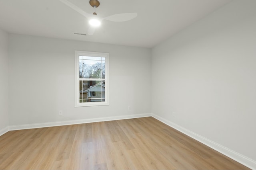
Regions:
<instances>
[{"instance_id":1,"label":"white three-blade ceiling fan with lit globe and brass mount","mask_svg":"<svg viewBox=\"0 0 256 170\"><path fill-rule=\"evenodd\" d=\"M136 18L136 16L137 16L137 13L122 13L122 14L115 14L112 16L107 16L105 18L98 18L96 12L94 12L93 14L89 14L67 0L60 0L60 1L64 4L66 4L67 6L69 6L70 8L72 8L73 10L75 10L76 12L82 14L89 20L90 27L87 31L88 35L92 35L94 33L96 27L98 27L100 25L102 20L123 22L123 21L132 20L132 19ZM98 6L100 6L100 2L98 0L90 0L89 3L94 9L97 8Z\"/></svg>"}]
</instances>

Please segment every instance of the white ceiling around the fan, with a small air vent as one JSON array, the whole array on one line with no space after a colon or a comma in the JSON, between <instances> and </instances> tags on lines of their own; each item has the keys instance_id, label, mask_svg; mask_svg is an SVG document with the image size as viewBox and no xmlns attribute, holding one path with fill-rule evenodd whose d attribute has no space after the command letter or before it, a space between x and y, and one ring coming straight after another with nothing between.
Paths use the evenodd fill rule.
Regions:
<instances>
[{"instance_id":1,"label":"white ceiling around the fan, with a small air vent","mask_svg":"<svg viewBox=\"0 0 256 170\"><path fill-rule=\"evenodd\" d=\"M92 13L89 0L69 0ZM59 0L0 0L0 28L8 33L136 47L154 47L231 0L99 0L100 18L137 12L126 22L104 20L94 35L87 19Z\"/></svg>"}]
</instances>

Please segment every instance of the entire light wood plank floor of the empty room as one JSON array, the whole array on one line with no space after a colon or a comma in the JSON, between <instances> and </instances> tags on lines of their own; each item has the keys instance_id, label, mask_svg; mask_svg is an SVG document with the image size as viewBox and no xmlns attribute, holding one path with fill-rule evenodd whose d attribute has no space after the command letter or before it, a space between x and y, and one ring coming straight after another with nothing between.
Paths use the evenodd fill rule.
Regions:
<instances>
[{"instance_id":1,"label":"entire light wood plank floor of the empty room","mask_svg":"<svg viewBox=\"0 0 256 170\"><path fill-rule=\"evenodd\" d=\"M247 170L152 118L9 131L1 170Z\"/></svg>"}]
</instances>

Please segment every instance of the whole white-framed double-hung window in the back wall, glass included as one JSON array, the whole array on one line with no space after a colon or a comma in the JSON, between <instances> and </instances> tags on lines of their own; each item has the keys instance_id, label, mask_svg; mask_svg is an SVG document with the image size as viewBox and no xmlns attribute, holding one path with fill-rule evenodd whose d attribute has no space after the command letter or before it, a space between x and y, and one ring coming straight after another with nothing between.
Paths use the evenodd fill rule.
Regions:
<instances>
[{"instance_id":1,"label":"whole white-framed double-hung window in the back wall, glass included","mask_svg":"<svg viewBox=\"0 0 256 170\"><path fill-rule=\"evenodd\" d=\"M108 105L108 57L75 51L75 107Z\"/></svg>"}]
</instances>

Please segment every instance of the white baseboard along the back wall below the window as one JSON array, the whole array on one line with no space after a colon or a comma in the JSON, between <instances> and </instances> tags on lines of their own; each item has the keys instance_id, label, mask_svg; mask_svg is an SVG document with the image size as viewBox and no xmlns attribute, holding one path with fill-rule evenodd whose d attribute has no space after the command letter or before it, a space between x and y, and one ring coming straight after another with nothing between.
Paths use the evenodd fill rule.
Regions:
<instances>
[{"instance_id":1,"label":"white baseboard along the back wall below the window","mask_svg":"<svg viewBox=\"0 0 256 170\"><path fill-rule=\"evenodd\" d=\"M134 114L134 115L100 117L100 118L93 118L93 119L56 121L56 122L47 122L47 123L33 123L33 124L26 124L26 125L12 125L12 126L9 126L8 129L9 129L9 131L14 131L14 130L21 130L21 129L34 129L34 128L40 128L40 127L52 127L52 126L74 125L74 124L92 123L92 122L100 122L100 121L132 119L132 118L139 118L139 117L149 117L151 115L152 115L151 113L144 113L144 114Z\"/></svg>"}]
</instances>

